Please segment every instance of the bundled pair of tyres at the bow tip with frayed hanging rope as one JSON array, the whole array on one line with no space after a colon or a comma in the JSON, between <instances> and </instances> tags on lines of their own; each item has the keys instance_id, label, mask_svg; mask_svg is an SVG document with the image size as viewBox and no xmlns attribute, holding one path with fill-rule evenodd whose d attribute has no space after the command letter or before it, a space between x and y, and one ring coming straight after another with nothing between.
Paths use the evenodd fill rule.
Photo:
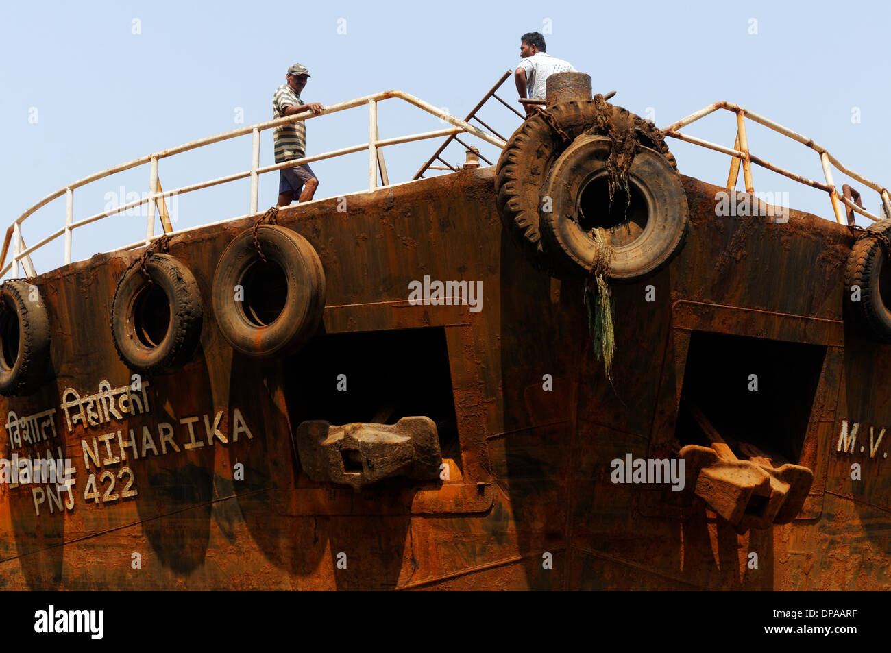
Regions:
<instances>
[{"instance_id":1,"label":"bundled pair of tyres at the bow tip with frayed hanging rope","mask_svg":"<svg viewBox=\"0 0 891 653\"><path fill-rule=\"evenodd\" d=\"M689 216L664 135L606 100L598 94L559 102L524 120L498 159L495 193L505 230L535 267L584 280L593 347L611 382L608 280L633 283L657 273L682 249ZM599 179L602 205L589 199L583 207L584 193L601 197L592 185Z\"/></svg>"}]
</instances>

